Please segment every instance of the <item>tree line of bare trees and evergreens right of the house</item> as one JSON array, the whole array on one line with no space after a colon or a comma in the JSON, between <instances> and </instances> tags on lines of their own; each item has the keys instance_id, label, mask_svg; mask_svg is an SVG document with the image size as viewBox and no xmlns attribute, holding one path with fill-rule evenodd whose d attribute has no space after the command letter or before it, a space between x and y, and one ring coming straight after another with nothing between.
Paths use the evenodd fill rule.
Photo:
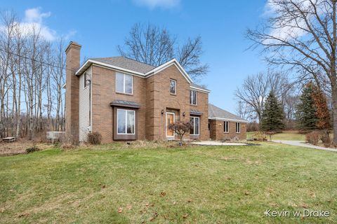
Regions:
<instances>
[{"instance_id":1,"label":"tree line of bare trees and evergreens right of the house","mask_svg":"<svg viewBox=\"0 0 337 224\"><path fill-rule=\"evenodd\" d=\"M286 77L279 72L248 76L235 92L237 114L256 123L251 131L277 132L286 128L329 132L333 116L331 99L326 97L329 92L315 85L314 80L294 83Z\"/></svg>"}]
</instances>

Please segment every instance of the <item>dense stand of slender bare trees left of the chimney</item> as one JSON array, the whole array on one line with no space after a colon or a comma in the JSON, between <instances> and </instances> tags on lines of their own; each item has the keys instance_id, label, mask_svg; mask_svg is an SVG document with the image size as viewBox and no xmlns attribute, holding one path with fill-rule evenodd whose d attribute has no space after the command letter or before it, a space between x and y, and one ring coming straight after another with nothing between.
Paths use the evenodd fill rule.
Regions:
<instances>
[{"instance_id":1,"label":"dense stand of slender bare trees left of the chimney","mask_svg":"<svg viewBox=\"0 0 337 224\"><path fill-rule=\"evenodd\" d=\"M65 52L5 11L0 25L0 137L65 130Z\"/></svg>"}]
</instances>

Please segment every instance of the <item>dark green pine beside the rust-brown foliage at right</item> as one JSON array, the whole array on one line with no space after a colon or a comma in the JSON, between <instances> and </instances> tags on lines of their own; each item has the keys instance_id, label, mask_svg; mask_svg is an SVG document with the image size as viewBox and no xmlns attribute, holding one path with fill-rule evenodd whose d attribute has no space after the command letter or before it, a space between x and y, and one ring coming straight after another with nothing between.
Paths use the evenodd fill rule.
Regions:
<instances>
[{"instance_id":1,"label":"dark green pine beside the rust-brown foliage at right","mask_svg":"<svg viewBox=\"0 0 337 224\"><path fill-rule=\"evenodd\" d=\"M314 85L309 82L303 87L300 95L300 102L296 108L296 120L300 130L315 130L317 129L317 109L315 100L312 97L314 94Z\"/></svg>"}]
</instances>

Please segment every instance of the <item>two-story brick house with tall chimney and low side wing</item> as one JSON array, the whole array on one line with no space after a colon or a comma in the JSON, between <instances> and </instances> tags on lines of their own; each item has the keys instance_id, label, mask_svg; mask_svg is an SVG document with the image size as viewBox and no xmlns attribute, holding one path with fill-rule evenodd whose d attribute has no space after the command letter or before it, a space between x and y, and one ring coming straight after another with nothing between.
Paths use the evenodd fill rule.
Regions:
<instances>
[{"instance_id":1,"label":"two-story brick house with tall chimney and low side wing","mask_svg":"<svg viewBox=\"0 0 337 224\"><path fill-rule=\"evenodd\" d=\"M74 42L65 50L68 137L86 141L89 132L99 132L103 143L176 139L169 124L177 120L192 123L186 139L225 137L210 132L214 121L218 124L227 117L209 116L210 91L192 83L176 59L154 67L126 57L104 57L80 66L80 50ZM241 118L235 121L246 123ZM240 133L231 133L230 128L229 136L246 139L246 125L240 127Z\"/></svg>"}]
</instances>

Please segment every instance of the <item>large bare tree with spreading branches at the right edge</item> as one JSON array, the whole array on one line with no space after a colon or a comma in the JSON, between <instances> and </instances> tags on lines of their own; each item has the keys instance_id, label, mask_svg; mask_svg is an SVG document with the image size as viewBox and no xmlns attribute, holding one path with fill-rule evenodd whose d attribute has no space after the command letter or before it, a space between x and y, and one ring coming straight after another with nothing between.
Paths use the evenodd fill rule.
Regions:
<instances>
[{"instance_id":1,"label":"large bare tree with spreading branches at the right edge","mask_svg":"<svg viewBox=\"0 0 337 224\"><path fill-rule=\"evenodd\" d=\"M269 0L272 13L262 27L249 29L252 47L262 46L267 62L298 70L329 83L333 104L333 142L337 144L337 0Z\"/></svg>"}]
</instances>

